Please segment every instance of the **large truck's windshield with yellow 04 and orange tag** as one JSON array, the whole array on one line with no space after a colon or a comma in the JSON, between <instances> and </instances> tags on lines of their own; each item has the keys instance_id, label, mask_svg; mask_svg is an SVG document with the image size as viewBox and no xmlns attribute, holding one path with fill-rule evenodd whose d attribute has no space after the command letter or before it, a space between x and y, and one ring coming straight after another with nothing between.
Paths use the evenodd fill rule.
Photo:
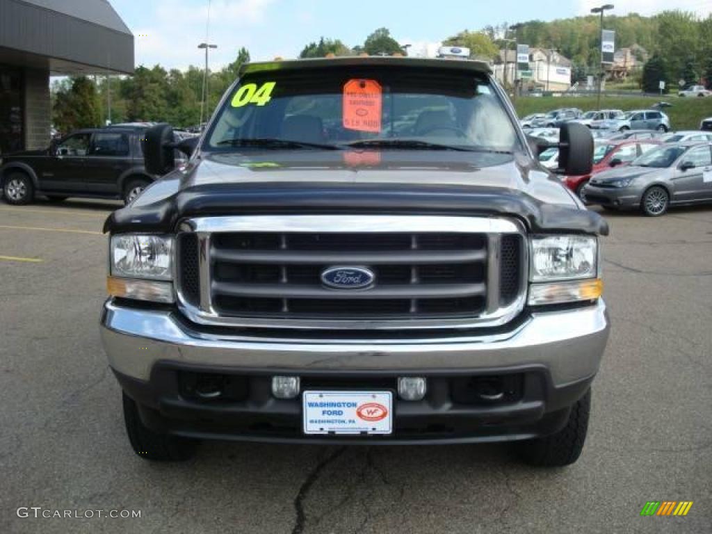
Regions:
<instances>
[{"instance_id":1,"label":"large truck's windshield with yellow 04 and orange tag","mask_svg":"<svg viewBox=\"0 0 712 534\"><path fill-rule=\"evenodd\" d=\"M485 75L377 67L248 74L226 99L206 139L206 150L240 152L350 145L483 152L520 147Z\"/></svg>"}]
</instances>

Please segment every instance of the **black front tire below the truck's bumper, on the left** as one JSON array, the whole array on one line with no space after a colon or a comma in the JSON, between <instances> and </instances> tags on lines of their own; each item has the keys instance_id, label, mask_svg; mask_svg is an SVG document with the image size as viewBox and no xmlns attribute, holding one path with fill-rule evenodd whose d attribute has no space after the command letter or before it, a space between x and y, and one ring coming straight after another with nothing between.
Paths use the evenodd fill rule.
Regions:
<instances>
[{"instance_id":1,"label":"black front tire below the truck's bumper, on the left","mask_svg":"<svg viewBox=\"0 0 712 534\"><path fill-rule=\"evenodd\" d=\"M195 454L198 441L158 434L141 422L136 402L122 392L126 433L134 452L141 458L159 461L184 461Z\"/></svg>"}]
</instances>

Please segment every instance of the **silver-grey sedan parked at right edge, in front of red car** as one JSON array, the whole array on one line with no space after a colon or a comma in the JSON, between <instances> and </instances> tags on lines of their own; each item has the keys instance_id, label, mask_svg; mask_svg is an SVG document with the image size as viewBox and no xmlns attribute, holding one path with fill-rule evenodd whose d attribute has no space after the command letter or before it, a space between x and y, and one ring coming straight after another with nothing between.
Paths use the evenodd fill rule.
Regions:
<instances>
[{"instance_id":1,"label":"silver-grey sedan parked at right edge, in front of red car","mask_svg":"<svg viewBox=\"0 0 712 534\"><path fill-rule=\"evenodd\" d=\"M588 204L660 216L670 206L712 202L712 143L649 150L628 166L601 172L584 188Z\"/></svg>"}]
</instances>

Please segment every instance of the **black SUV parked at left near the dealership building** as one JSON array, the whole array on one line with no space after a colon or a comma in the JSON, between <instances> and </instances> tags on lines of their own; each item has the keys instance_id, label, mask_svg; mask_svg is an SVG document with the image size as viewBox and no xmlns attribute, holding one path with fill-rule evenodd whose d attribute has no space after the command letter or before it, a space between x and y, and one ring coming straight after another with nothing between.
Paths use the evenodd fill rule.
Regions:
<instances>
[{"instance_id":1,"label":"black SUV parked at left near the dealership building","mask_svg":"<svg viewBox=\"0 0 712 534\"><path fill-rule=\"evenodd\" d=\"M146 127L78 130L46 150L5 155L0 183L9 204L98 197L132 201L156 177L146 172L141 139Z\"/></svg>"}]
</instances>

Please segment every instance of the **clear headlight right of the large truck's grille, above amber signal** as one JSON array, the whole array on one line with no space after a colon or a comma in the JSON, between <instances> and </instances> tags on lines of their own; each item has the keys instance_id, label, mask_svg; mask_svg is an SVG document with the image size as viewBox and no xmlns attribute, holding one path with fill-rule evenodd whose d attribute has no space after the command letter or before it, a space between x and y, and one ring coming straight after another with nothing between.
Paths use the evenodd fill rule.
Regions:
<instances>
[{"instance_id":1,"label":"clear headlight right of the large truck's grille, above amber signal","mask_svg":"<svg viewBox=\"0 0 712 534\"><path fill-rule=\"evenodd\" d=\"M533 236L532 282L580 280L597 276L598 241L593 236Z\"/></svg>"}]
</instances>

